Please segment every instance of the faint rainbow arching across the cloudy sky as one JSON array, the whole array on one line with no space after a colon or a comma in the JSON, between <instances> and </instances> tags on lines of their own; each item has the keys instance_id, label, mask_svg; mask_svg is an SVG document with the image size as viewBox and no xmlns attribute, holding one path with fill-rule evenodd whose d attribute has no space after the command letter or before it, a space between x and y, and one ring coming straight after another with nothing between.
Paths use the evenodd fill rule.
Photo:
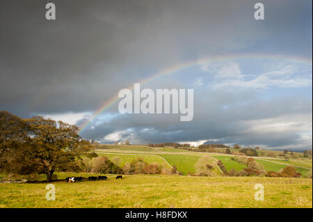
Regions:
<instances>
[{"instance_id":1,"label":"faint rainbow arching across the cloudy sky","mask_svg":"<svg viewBox=\"0 0 313 222\"><path fill-rule=\"evenodd\" d=\"M296 63L305 63L308 65L312 65L312 58L304 58L304 57L291 57L291 56L284 56L284 55L268 55L268 54L232 54L232 55L228 55L228 56L213 56L213 57L204 57L204 58L200 58L196 61L187 61L184 63L179 63L176 65L172 65L168 68L164 68L162 70L159 70L159 72L152 74L151 77L148 77L146 79L143 79L141 81L139 81L139 84L147 84L151 81L154 81L154 79L157 79L159 77L163 77L175 72L178 72L179 70L184 70L186 68L190 68L193 65L199 65L201 63L209 63L209 62L217 62L217 61L227 61L227 60L234 60L234 59L272 59L272 60L282 60L282 61L293 61ZM130 90L134 90L134 84L131 84L131 86L128 87ZM104 104L102 104L101 106L99 106L99 108L93 113L92 118L89 118L88 120L86 120L85 122L83 122L80 125L80 133L83 132L84 129L86 129L86 127L88 127L88 125L90 125L91 122L93 122L93 120L95 120L95 118L97 118L101 113L104 113L104 111L106 111L107 109L109 109L113 104L115 104L116 102L118 102L119 98L118 98L118 94L116 94L115 96L111 97L110 100L104 102Z\"/></svg>"}]
</instances>

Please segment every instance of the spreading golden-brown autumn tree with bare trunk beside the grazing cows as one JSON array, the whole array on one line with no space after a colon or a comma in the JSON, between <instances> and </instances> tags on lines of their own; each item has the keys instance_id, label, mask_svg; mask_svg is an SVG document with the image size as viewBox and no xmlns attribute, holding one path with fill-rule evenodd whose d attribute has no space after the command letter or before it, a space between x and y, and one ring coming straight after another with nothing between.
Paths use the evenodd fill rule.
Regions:
<instances>
[{"instance_id":1,"label":"spreading golden-brown autumn tree with bare trunk beside the grazing cows","mask_svg":"<svg viewBox=\"0 0 313 222\"><path fill-rule=\"evenodd\" d=\"M77 170L75 158L88 155L90 143L81 139L77 126L47 120L41 116L25 121L31 128L33 138L26 143L31 152L26 151L23 156L26 160L35 162L35 170L45 173L47 180L51 180L55 171Z\"/></svg>"}]
</instances>

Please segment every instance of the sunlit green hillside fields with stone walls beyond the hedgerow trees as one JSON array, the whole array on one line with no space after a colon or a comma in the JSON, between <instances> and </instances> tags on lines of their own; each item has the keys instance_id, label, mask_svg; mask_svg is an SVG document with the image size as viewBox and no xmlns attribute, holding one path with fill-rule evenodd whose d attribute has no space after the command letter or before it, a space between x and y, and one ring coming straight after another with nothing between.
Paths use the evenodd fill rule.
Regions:
<instances>
[{"instance_id":1,"label":"sunlit green hillside fields with stone walls beyond the hedgerow trees","mask_svg":"<svg viewBox=\"0 0 313 222\"><path fill-rule=\"evenodd\" d=\"M177 167L177 171L182 172L184 175L187 175L188 173L195 173L195 164L202 156L210 156L213 159L216 159L216 161L222 161L227 171L230 171L230 169L241 171L246 167L243 164L239 164L238 162L231 160L232 155L221 153L193 152L171 147L149 148L144 145L106 145L105 149L99 149L97 152L98 154L106 155L111 159L118 156L122 159L123 164L125 164L127 161L130 162L131 160L138 157L144 157L145 161L148 163L154 162L162 164L164 161L167 161L170 166L175 165ZM280 151L275 152L280 153ZM163 157L163 159L159 158L158 156ZM262 164L266 171L277 172L289 165L295 166L296 171L302 175L306 175L310 170L312 170L312 160L290 159L289 161L286 161L284 159L271 157L257 157L256 161L257 163ZM216 164L213 162L211 164L215 169Z\"/></svg>"}]
</instances>

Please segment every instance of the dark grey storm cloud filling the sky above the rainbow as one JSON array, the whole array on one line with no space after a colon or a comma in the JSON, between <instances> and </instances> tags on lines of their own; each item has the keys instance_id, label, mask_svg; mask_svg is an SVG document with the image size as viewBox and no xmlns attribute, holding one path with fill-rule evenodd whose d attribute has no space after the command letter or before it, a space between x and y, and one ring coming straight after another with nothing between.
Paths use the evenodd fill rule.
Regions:
<instances>
[{"instance_id":1,"label":"dark grey storm cloud filling the sky above the rainbow","mask_svg":"<svg viewBox=\"0 0 313 222\"><path fill-rule=\"evenodd\" d=\"M264 25L250 1L54 1L47 21L45 3L1 1L0 102L23 116L93 111L154 70L293 33L285 21L298 16L283 14L289 2L271 4L278 22Z\"/></svg>"}]
</instances>

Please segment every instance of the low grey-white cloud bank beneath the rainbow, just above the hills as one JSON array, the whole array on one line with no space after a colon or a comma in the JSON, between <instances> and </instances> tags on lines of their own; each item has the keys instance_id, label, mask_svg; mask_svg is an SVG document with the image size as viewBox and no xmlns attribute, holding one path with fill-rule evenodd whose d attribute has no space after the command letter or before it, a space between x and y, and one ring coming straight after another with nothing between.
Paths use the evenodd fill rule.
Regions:
<instances>
[{"instance_id":1,"label":"low grey-white cloud bank beneath the rainbow, just above the hills","mask_svg":"<svg viewBox=\"0 0 313 222\"><path fill-rule=\"evenodd\" d=\"M311 101L298 97L266 101L258 100L250 92L244 94L241 93L239 97L234 93L220 92L219 96L215 93L206 103L201 103L195 97L195 116L188 123L180 122L179 115L174 114L123 114L94 129L86 130L82 136L88 137L93 132L93 136L97 135L93 139L108 142L104 139L106 135L120 132L120 138L136 143L217 139L216 143L266 145L275 148L300 145L301 138L297 133L310 129L310 121L312 122L312 118L307 115L312 112ZM223 97L224 103L230 104L229 109L225 110L219 104L218 98ZM236 104L241 102L241 97L246 97L247 102L238 106ZM291 125L286 129L278 126L279 132L276 132L275 125L280 125L281 122ZM273 126L267 127L268 125ZM254 129L256 126L260 129ZM305 143L303 148L312 148L312 145Z\"/></svg>"}]
</instances>

